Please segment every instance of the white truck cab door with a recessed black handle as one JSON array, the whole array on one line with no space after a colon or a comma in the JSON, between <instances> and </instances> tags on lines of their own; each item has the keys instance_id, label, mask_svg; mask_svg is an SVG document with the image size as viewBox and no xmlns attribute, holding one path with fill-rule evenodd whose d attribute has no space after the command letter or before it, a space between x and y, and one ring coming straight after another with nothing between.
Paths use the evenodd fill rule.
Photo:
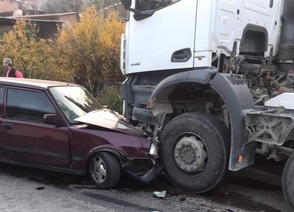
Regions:
<instances>
[{"instance_id":1,"label":"white truck cab door with a recessed black handle","mask_svg":"<svg viewBox=\"0 0 294 212\"><path fill-rule=\"evenodd\" d=\"M197 0L133 0L132 8L149 16L130 14L126 74L193 67Z\"/></svg>"}]
</instances>

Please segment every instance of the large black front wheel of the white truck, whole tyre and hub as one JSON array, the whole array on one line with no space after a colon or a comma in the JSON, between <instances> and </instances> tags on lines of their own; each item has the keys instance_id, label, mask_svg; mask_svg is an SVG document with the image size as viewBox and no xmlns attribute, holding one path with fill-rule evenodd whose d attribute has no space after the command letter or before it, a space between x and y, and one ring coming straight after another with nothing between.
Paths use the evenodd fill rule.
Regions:
<instances>
[{"instance_id":1,"label":"large black front wheel of the white truck, whole tyre and hub","mask_svg":"<svg viewBox=\"0 0 294 212\"><path fill-rule=\"evenodd\" d=\"M170 121L161 136L165 175L176 187L204 193L228 173L230 133L212 115L187 113Z\"/></svg>"}]
</instances>

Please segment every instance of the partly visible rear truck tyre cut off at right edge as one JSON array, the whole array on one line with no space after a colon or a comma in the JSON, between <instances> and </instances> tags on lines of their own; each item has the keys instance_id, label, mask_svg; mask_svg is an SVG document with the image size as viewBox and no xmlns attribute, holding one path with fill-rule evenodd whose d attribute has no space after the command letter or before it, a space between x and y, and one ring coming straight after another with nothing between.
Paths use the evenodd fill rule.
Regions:
<instances>
[{"instance_id":1,"label":"partly visible rear truck tyre cut off at right edge","mask_svg":"<svg viewBox=\"0 0 294 212\"><path fill-rule=\"evenodd\" d=\"M283 171L282 187L285 200L294 210L294 153L289 157Z\"/></svg>"}]
</instances>

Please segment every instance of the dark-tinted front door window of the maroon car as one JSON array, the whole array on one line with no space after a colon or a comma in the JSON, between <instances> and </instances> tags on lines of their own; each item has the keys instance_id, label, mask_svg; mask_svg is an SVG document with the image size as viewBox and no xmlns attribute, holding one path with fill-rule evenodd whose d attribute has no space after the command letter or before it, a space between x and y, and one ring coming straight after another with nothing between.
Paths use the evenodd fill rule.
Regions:
<instances>
[{"instance_id":1,"label":"dark-tinted front door window of the maroon car","mask_svg":"<svg viewBox=\"0 0 294 212\"><path fill-rule=\"evenodd\" d=\"M43 123L45 114L56 114L45 93L7 89L6 118Z\"/></svg>"}]
</instances>

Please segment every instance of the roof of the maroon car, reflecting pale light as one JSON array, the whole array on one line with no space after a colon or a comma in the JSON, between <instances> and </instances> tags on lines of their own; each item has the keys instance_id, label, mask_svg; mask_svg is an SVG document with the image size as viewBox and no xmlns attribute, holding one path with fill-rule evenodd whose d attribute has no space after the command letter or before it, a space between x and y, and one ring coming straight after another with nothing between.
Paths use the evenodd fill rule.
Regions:
<instances>
[{"instance_id":1,"label":"roof of the maroon car, reflecting pale light","mask_svg":"<svg viewBox=\"0 0 294 212\"><path fill-rule=\"evenodd\" d=\"M71 83L49 81L49 80L36 80L26 78L12 78L12 77L0 77L0 85L17 86L30 89L47 90L50 87L55 86L79 86Z\"/></svg>"}]
</instances>

